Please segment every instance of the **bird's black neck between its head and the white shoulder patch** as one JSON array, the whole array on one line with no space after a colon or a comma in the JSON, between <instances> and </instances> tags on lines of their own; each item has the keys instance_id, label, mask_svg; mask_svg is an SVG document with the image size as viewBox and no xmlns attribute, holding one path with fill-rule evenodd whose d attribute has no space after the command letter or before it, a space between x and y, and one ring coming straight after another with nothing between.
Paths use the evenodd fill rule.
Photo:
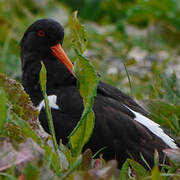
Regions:
<instances>
[{"instance_id":1,"label":"bird's black neck between its head and the white shoulder patch","mask_svg":"<svg viewBox=\"0 0 180 180\"><path fill-rule=\"evenodd\" d=\"M62 86L75 85L76 79L66 69L66 67L56 59L56 57L46 56L41 57L37 54L30 56L22 56L22 82L25 91L30 95L30 98L35 106L43 99L40 87L39 72L41 69L41 60L47 70L47 94L56 94Z\"/></svg>"}]
</instances>

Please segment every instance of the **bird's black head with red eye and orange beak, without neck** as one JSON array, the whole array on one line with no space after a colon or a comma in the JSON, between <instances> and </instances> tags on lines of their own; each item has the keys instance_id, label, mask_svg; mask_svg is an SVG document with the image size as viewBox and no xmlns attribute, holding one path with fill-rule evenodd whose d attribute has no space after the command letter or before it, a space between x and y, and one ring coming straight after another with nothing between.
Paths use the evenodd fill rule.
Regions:
<instances>
[{"instance_id":1,"label":"bird's black head with red eye and orange beak, without neck","mask_svg":"<svg viewBox=\"0 0 180 180\"><path fill-rule=\"evenodd\" d=\"M74 75L73 64L61 47L63 38L64 29L58 22L52 19L35 21L25 31L20 42L22 68L25 67L27 61L29 62L28 56L39 57L39 60L51 56L49 59L57 58Z\"/></svg>"}]
</instances>

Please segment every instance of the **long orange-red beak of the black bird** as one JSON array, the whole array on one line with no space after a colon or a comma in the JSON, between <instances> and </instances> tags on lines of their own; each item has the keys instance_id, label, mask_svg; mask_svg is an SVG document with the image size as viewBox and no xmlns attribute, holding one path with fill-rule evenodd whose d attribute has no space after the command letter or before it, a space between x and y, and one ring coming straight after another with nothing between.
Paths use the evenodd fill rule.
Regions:
<instances>
[{"instance_id":1,"label":"long orange-red beak of the black bird","mask_svg":"<svg viewBox=\"0 0 180 180\"><path fill-rule=\"evenodd\" d=\"M60 44L56 44L54 46L51 46L51 50L53 55L56 56L59 61L61 61L67 67L67 69L72 73L73 76L75 76L73 72L73 64L64 52L62 46Z\"/></svg>"}]
</instances>

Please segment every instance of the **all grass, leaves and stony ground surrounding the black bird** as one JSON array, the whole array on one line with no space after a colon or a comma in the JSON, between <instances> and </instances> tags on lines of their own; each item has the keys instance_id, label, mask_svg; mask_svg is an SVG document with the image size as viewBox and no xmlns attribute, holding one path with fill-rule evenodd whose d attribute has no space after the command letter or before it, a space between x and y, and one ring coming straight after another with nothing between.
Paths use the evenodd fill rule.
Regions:
<instances>
[{"instance_id":1,"label":"all grass, leaves and stony ground surrounding the black bird","mask_svg":"<svg viewBox=\"0 0 180 180\"><path fill-rule=\"evenodd\" d=\"M179 179L179 151L165 150L172 162L169 166L163 165L161 170L155 153L153 169L148 171L127 159L120 172L116 162L105 162L103 155L92 155L90 150L81 154L93 129L93 118L89 117L93 117L91 107L98 78L92 64L101 73L101 80L137 99L152 119L179 141L178 1L0 1L0 179L132 179L129 166L134 169L135 179ZM79 11L86 31L75 14L69 18L74 10ZM63 46L76 63L85 105L81 123L70 136L71 149L60 143L61 151L59 147L56 150L56 143L53 146L51 137L39 129L38 111L20 84L19 41L27 26L44 17L55 18L65 27ZM75 23L81 31L74 28ZM85 81L91 80L85 87L87 92L83 91L84 72L79 67L89 68L85 75ZM45 82L45 77L42 79ZM87 123L91 124L90 131L82 130Z\"/></svg>"}]
</instances>

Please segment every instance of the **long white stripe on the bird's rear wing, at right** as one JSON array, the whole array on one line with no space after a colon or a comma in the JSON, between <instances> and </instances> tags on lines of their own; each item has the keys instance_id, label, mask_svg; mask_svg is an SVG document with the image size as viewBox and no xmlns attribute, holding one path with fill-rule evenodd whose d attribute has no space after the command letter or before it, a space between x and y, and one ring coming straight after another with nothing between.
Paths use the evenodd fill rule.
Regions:
<instances>
[{"instance_id":1,"label":"long white stripe on the bird's rear wing, at right","mask_svg":"<svg viewBox=\"0 0 180 180\"><path fill-rule=\"evenodd\" d=\"M125 105L124 105L125 106ZM125 106L127 107L127 106ZM153 134L155 134L156 136L158 136L159 138L161 138L169 147L171 147L172 149L178 149L177 145L174 142L174 139L172 139L171 137L169 137L161 128L160 125L153 122L152 120L148 119L147 117L143 116L142 114L133 111L132 109L130 109L129 107L127 107L131 112L134 113L134 115L136 116L134 118L134 120L136 120L137 122L139 122L140 124L144 125L145 127L147 127Z\"/></svg>"}]
</instances>

